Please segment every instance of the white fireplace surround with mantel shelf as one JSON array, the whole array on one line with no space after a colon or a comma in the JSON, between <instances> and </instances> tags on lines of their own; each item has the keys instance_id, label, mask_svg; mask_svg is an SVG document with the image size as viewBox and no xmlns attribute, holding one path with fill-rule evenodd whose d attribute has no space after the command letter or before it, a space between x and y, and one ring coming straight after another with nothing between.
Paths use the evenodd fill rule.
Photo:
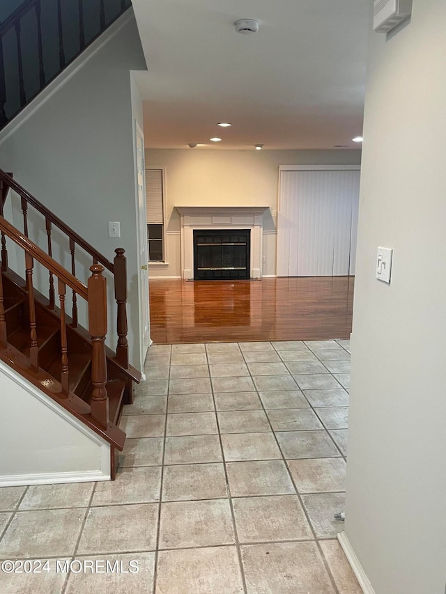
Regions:
<instances>
[{"instance_id":1,"label":"white fireplace surround with mantel shelf","mask_svg":"<svg viewBox=\"0 0 446 594\"><path fill-rule=\"evenodd\" d=\"M249 276L261 279L263 213L269 206L176 206L180 213L181 277L194 278L195 229L250 229Z\"/></svg>"}]
</instances>

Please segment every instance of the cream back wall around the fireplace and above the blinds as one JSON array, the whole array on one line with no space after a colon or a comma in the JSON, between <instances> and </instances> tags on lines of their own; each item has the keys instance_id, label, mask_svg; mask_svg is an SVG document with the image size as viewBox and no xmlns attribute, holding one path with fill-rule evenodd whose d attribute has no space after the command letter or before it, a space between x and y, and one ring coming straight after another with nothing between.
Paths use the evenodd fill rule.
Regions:
<instances>
[{"instance_id":1,"label":"cream back wall around the fireplace and above the blinds","mask_svg":"<svg viewBox=\"0 0 446 594\"><path fill-rule=\"evenodd\" d=\"M279 165L360 164L360 150L146 149L147 167L166 171L167 260L150 276L180 277L180 216L175 206L270 206L277 210ZM264 275L275 275L276 221L263 217Z\"/></svg>"}]
</instances>

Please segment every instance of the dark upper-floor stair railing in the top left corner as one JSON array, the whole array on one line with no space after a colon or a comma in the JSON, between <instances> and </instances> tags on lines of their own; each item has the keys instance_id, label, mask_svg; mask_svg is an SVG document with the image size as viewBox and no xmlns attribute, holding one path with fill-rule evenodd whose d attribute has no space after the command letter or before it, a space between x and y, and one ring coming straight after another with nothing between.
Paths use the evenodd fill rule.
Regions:
<instances>
[{"instance_id":1,"label":"dark upper-floor stair railing in the top left corner","mask_svg":"<svg viewBox=\"0 0 446 594\"><path fill-rule=\"evenodd\" d=\"M76 15L72 4L24 0L0 23L0 129L132 6L131 0L77 0ZM15 51L8 52L12 45ZM29 54L37 58L32 63ZM7 79L6 72L13 75Z\"/></svg>"}]
</instances>

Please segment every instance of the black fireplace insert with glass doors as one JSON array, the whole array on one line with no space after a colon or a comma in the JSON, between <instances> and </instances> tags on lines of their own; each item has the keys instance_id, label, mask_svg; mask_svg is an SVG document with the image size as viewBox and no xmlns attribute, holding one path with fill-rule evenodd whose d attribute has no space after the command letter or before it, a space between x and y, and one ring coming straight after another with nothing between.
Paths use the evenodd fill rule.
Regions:
<instances>
[{"instance_id":1,"label":"black fireplace insert with glass doors","mask_svg":"<svg viewBox=\"0 0 446 594\"><path fill-rule=\"evenodd\" d=\"M194 280L249 279L249 229L195 229Z\"/></svg>"}]
</instances>

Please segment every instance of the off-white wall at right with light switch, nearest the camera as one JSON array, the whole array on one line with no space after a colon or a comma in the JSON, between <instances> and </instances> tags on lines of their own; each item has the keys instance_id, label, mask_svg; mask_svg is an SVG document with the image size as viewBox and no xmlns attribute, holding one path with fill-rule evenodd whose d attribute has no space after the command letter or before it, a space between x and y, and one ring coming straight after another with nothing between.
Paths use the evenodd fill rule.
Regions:
<instances>
[{"instance_id":1,"label":"off-white wall at right with light switch, nearest the camera","mask_svg":"<svg viewBox=\"0 0 446 594\"><path fill-rule=\"evenodd\" d=\"M445 592L445 30L444 0L414 0L410 24L370 40L346 536L376 594Z\"/></svg>"}]
</instances>

